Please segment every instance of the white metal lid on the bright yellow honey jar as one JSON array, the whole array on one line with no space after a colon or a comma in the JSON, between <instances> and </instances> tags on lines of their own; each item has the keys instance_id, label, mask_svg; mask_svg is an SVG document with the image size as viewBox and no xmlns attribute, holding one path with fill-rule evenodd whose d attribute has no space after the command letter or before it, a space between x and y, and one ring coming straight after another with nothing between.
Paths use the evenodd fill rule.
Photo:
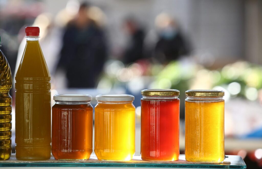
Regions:
<instances>
[{"instance_id":1,"label":"white metal lid on the bright yellow honey jar","mask_svg":"<svg viewBox=\"0 0 262 169\"><path fill-rule=\"evenodd\" d=\"M125 102L134 101L135 97L129 94L99 94L96 96L97 101Z\"/></svg>"}]
</instances>

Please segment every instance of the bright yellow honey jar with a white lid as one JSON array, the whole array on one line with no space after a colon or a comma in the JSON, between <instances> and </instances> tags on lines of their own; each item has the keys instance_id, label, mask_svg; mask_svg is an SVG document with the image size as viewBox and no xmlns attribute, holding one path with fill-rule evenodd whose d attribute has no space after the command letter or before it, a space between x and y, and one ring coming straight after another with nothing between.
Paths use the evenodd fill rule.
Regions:
<instances>
[{"instance_id":1,"label":"bright yellow honey jar with a white lid","mask_svg":"<svg viewBox=\"0 0 262 169\"><path fill-rule=\"evenodd\" d=\"M99 160L129 161L135 153L134 96L100 94L95 107L95 154Z\"/></svg>"}]
</instances>

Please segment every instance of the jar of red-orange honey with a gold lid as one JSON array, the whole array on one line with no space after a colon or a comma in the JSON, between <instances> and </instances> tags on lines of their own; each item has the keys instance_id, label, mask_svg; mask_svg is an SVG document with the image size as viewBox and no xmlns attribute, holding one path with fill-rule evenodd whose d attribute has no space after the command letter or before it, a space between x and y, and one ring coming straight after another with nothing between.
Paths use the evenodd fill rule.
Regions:
<instances>
[{"instance_id":1,"label":"jar of red-orange honey with a gold lid","mask_svg":"<svg viewBox=\"0 0 262 169\"><path fill-rule=\"evenodd\" d=\"M179 91L141 91L141 158L175 161L179 157Z\"/></svg>"}]
</instances>

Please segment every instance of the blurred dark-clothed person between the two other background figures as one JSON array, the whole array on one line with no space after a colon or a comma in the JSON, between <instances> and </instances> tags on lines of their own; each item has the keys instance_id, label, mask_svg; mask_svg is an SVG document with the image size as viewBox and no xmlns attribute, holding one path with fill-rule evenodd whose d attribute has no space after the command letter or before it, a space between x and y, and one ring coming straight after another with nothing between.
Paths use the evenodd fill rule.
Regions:
<instances>
[{"instance_id":1,"label":"blurred dark-clothed person between the two other background figures","mask_svg":"<svg viewBox=\"0 0 262 169\"><path fill-rule=\"evenodd\" d=\"M123 54L123 62L129 64L143 58L145 33L138 21L132 17L124 20L124 29L129 41Z\"/></svg>"}]
</instances>

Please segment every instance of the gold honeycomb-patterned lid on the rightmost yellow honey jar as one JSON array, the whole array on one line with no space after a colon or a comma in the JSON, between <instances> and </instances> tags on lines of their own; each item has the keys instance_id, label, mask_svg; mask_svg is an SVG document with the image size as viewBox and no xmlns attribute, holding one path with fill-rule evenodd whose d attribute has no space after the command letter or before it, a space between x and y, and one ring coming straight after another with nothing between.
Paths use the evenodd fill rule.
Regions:
<instances>
[{"instance_id":1,"label":"gold honeycomb-patterned lid on the rightmost yellow honey jar","mask_svg":"<svg viewBox=\"0 0 262 169\"><path fill-rule=\"evenodd\" d=\"M185 96L195 97L222 97L225 92L222 90L188 90L185 92Z\"/></svg>"}]
</instances>

